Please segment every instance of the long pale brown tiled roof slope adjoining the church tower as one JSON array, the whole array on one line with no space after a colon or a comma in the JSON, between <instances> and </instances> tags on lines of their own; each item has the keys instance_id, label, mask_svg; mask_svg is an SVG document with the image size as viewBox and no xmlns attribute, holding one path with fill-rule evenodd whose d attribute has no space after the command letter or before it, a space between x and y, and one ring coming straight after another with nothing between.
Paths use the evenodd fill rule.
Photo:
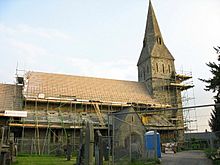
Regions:
<instances>
[{"instance_id":1,"label":"long pale brown tiled roof slope adjoining the church tower","mask_svg":"<svg viewBox=\"0 0 220 165\"><path fill-rule=\"evenodd\" d=\"M101 102L158 104L144 83L64 74L28 72L24 97L73 97Z\"/></svg>"}]
</instances>

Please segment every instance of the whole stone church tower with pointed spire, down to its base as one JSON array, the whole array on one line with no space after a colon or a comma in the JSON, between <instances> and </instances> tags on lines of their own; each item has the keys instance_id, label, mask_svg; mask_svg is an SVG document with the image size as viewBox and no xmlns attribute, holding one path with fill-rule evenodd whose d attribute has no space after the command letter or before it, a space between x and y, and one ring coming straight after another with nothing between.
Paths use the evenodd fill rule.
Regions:
<instances>
[{"instance_id":1,"label":"whole stone church tower with pointed spire, down to its base","mask_svg":"<svg viewBox=\"0 0 220 165\"><path fill-rule=\"evenodd\" d=\"M158 114L163 115L173 124L171 132L163 133L173 134L173 139L182 143L184 121L181 109L181 91L192 87L183 85L182 82L192 77L176 74L174 58L164 43L151 1L149 2L143 48L137 66L138 81L146 84L150 95L161 104L168 104L174 108L172 111L163 111Z\"/></svg>"}]
</instances>

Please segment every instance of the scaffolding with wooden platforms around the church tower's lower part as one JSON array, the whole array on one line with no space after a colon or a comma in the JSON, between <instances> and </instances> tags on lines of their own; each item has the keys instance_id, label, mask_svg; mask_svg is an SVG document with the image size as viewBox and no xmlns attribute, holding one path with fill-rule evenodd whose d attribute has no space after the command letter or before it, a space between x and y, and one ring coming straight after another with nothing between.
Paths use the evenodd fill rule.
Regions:
<instances>
[{"instance_id":1,"label":"scaffolding with wooden platforms around the church tower's lower part","mask_svg":"<svg viewBox=\"0 0 220 165\"><path fill-rule=\"evenodd\" d=\"M155 129L162 122L167 129L159 127L159 132L167 134L168 141L183 141L184 132L197 130L195 109L181 109L183 106L195 105L192 72L177 71L163 76L163 78L157 78L157 81L154 80L156 92L153 95L161 104L167 104L176 109L146 113L142 115L142 122L148 126L149 130Z\"/></svg>"}]
</instances>

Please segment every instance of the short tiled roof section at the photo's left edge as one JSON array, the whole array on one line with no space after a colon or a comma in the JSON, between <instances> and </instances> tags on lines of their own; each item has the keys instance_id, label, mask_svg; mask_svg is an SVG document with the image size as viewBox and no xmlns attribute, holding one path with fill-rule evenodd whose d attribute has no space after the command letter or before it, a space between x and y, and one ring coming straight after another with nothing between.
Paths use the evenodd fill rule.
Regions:
<instances>
[{"instance_id":1,"label":"short tiled roof section at the photo's left edge","mask_svg":"<svg viewBox=\"0 0 220 165\"><path fill-rule=\"evenodd\" d=\"M0 84L0 110L21 110L21 86Z\"/></svg>"}]
</instances>

